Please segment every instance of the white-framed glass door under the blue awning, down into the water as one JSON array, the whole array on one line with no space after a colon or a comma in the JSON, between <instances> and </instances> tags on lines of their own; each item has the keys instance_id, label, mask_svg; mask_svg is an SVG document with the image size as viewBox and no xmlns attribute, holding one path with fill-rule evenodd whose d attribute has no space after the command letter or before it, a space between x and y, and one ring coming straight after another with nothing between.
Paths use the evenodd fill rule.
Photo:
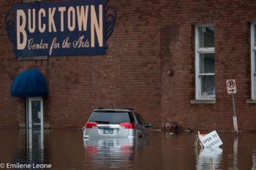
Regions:
<instances>
[{"instance_id":1,"label":"white-framed glass door under the blue awning, down into the water","mask_svg":"<svg viewBox=\"0 0 256 170\"><path fill-rule=\"evenodd\" d=\"M44 139L44 117L43 99L41 97L27 98L27 147L43 148Z\"/></svg>"}]
</instances>

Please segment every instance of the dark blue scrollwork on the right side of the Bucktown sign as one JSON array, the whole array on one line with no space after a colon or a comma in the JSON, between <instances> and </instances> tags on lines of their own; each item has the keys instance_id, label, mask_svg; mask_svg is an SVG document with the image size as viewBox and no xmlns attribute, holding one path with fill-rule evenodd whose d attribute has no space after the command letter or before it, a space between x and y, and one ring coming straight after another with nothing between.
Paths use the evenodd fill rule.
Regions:
<instances>
[{"instance_id":1,"label":"dark blue scrollwork on the right side of the Bucktown sign","mask_svg":"<svg viewBox=\"0 0 256 170\"><path fill-rule=\"evenodd\" d=\"M106 41L113 34L116 22L116 7L110 5L106 8Z\"/></svg>"}]
</instances>

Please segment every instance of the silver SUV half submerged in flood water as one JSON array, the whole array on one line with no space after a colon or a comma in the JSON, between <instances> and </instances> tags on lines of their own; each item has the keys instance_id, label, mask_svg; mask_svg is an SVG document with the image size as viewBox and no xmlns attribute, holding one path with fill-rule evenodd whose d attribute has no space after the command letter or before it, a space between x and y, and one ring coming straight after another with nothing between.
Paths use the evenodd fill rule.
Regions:
<instances>
[{"instance_id":1,"label":"silver SUV half submerged in flood water","mask_svg":"<svg viewBox=\"0 0 256 170\"><path fill-rule=\"evenodd\" d=\"M146 136L152 123L145 123L133 109L94 109L83 128L84 138Z\"/></svg>"}]
</instances>

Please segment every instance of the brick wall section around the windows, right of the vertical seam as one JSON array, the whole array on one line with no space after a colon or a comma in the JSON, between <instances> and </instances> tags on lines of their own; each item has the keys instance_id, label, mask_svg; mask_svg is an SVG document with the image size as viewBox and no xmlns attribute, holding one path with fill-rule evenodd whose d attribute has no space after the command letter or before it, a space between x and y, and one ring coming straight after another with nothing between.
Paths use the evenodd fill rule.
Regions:
<instances>
[{"instance_id":1,"label":"brick wall section around the windows, right of the vertical seam","mask_svg":"<svg viewBox=\"0 0 256 170\"><path fill-rule=\"evenodd\" d=\"M175 121L189 128L233 130L231 96L225 87L225 80L233 78L238 85L238 127L255 130L256 105L246 104L250 98L248 22L256 20L255 2L166 1L161 5L162 123ZM190 104L195 98L193 25L197 23L214 23L217 104ZM175 74L168 77L168 69Z\"/></svg>"}]
</instances>

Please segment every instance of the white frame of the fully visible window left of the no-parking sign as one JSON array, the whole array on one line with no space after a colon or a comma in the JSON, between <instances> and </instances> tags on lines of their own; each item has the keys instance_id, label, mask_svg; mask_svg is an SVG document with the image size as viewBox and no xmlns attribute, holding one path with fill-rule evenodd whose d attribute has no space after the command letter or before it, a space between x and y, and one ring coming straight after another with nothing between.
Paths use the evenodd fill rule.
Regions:
<instances>
[{"instance_id":1,"label":"white frame of the fully visible window left of the no-parking sign","mask_svg":"<svg viewBox=\"0 0 256 170\"><path fill-rule=\"evenodd\" d=\"M195 99L209 99L215 100L216 95L201 95L201 80L200 76L203 75L214 75L214 73L200 74L200 54L202 53L215 53L215 47L199 47L199 27L214 26L214 24L198 24L195 26ZM215 46L215 45L214 45ZM214 55L215 58L215 55Z\"/></svg>"}]
</instances>

